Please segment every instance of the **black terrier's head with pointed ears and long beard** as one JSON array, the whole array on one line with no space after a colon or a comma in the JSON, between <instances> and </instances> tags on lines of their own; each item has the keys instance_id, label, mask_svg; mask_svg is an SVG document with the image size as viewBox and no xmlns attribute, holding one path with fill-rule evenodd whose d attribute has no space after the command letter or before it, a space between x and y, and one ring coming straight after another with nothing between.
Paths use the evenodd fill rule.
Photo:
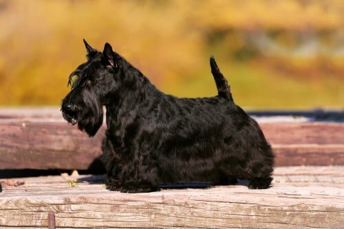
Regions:
<instances>
[{"instance_id":1,"label":"black terrier's head with pointed ears and long beard","mask_svg":"<svg viewBox=\"0 0 344 229\"><path fill-rule=\"evenodd\" d=\"M92 48L84 40L87 62L69 75L72 90L62 101L63 118L78 124L78 129L94 136L103 124L103 106L107 98L116 93L122 84L123 67L127 62L112 51L109 43L103 52Z\"/></svg>"}]
</instances>

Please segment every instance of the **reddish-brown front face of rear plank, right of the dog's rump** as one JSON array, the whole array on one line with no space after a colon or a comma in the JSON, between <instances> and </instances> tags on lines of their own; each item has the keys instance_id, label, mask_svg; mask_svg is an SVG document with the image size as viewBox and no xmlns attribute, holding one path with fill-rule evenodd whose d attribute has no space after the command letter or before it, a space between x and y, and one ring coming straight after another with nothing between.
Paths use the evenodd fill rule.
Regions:
<instances>
[{"instance_id":1,"label":"reddish-brown front face of rear plank, right of the dog's rump","mask_svg":"<svg viewBox=\"0 0 344 229\"><path fill-rule=\"evenodd\" d=\"M344 165L344 123L260 123L277 166Z\"/></svg>"}]
</instances>

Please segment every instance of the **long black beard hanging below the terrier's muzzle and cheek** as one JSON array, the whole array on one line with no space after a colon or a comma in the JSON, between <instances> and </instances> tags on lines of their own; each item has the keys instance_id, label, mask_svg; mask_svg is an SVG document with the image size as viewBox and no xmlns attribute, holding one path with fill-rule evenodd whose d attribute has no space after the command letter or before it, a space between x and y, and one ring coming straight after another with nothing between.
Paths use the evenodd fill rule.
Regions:
<instances>
[{"instance_id":1,"label":"long black beard hanging below the terrier's muzzle and cheek","mask_svg":"<svg viewBox=\"0 0 344 229\"><path fill-rule=\"evenodd\" d=\"M103 106L96 96L89 96L85 100L85 108L78 121L78 129L94 136L103 124Z\"/></svg>"}]
</instances>

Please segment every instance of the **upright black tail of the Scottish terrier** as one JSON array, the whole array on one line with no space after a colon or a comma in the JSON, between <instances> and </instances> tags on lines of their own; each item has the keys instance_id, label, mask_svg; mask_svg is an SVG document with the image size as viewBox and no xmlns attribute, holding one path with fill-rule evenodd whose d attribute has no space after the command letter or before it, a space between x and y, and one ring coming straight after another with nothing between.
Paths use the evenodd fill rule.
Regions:
<instances>
[{"instance_id":1,"label":"upright black tail of the Scottish terrier","mask_svg":"<svg viewBox=\"0 0 344 229\"><path fill-rule=\"evenodd\" d=\"M213 74L219 96L233 101L232 93L230 93L230 86L224 75L219 71L214 56L211 56L211 73Z\"/></svg>"}]
</instances>

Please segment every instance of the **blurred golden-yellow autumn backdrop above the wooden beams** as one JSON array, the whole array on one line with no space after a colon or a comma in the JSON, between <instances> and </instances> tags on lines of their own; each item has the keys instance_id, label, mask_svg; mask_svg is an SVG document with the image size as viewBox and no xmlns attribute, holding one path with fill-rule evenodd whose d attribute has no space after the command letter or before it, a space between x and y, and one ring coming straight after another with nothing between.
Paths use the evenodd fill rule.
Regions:
<instances>
[{"instance_id":1,"label":"blurred golden-yellow autumn backdrop above the wooden beams","mask_svg":"<svg viewBox=\"0 0 344 229\"><path fill-rule=\"evenodd\" d=\"M165 93L215 95L214 55L244 108L341 109L343 12L343 0L0 0L0 106L59 106L85 38Z\"/></svg>"}]
</instances>

